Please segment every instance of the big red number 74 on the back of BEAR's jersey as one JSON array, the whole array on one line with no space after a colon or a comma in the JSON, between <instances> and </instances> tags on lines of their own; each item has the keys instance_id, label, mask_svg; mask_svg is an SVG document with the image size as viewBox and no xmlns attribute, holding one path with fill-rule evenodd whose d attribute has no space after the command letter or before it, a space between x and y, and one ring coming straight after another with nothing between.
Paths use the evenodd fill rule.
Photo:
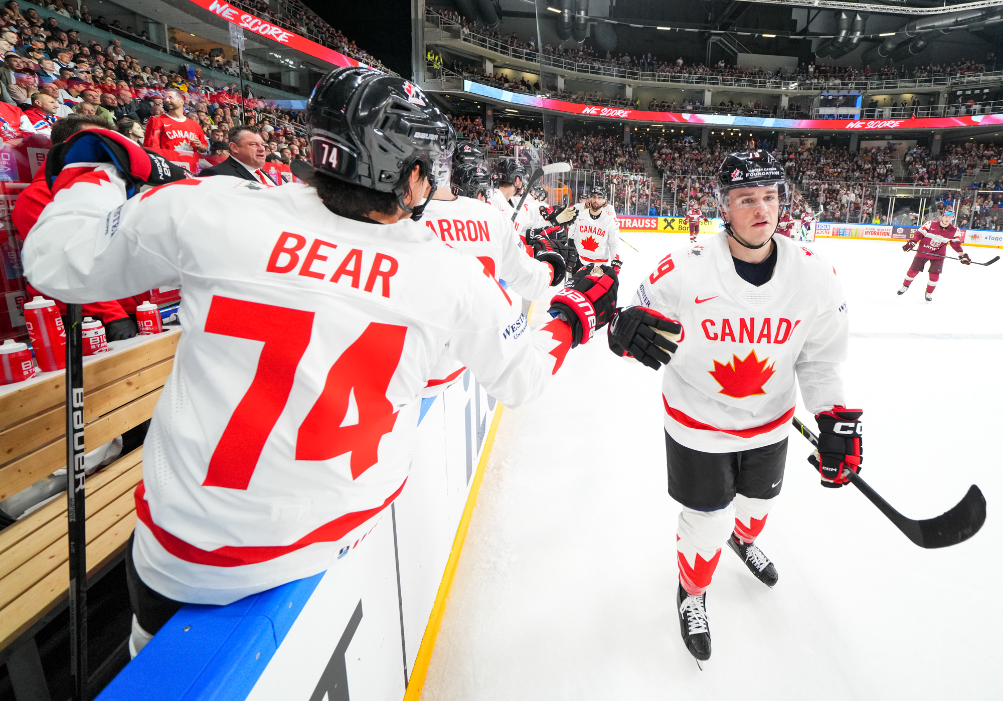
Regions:
<instances>
[{"instance_id":1,"label":"big red number 74 on the back of BEAR's jersey","mask_svg":"<svg viewBox=\"0 0 1003 701\"><path fill-rule=\"evenodd\" d=\"M247 323L268 318L284 334ZM251 386L227 422L209 461L204 486L247 489L272 428L293 390L296 367L310 345L313 312L214 296L208 333L264 342ZM296 437L297 460L328 460L351 451L352 479L376 464L379 441L397 413L386 398L404 349L406 326L369 324L334 361L327 382ZM354 392L358 423L342 426Z\"/></svg>"}]
</instances>

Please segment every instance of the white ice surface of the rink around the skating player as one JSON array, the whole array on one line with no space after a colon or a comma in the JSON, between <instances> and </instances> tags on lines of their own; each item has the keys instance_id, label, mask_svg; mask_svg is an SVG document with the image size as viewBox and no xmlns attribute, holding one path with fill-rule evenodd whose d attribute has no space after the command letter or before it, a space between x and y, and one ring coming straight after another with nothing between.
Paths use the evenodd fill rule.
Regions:
<instances>
[{"instance_id":1,"label":"white ice surface of the rink around the skating player","mask_svg":"<svg viewBox=\"0 0 1003 701\"><path fill-rule=\"evenodd\" d=\"M687 245L624 238L639 252L621 247L621 304ZM895 294L913 256L897 243L805 246L835 266L850 305L844 377L848 405L865 409L862 475L912 518L978 484L982 531L917 548L855 487L819 486L791 432L757 541L779 582L768 589L724 549L699 671L675 611L660 373L615 357L604 331L545 396L501 417L422 699L1003 698L1003 263L948 261L927 304L925 273ZM800 401L797 415L814 428Z\"/></svg>"}]
</instances>

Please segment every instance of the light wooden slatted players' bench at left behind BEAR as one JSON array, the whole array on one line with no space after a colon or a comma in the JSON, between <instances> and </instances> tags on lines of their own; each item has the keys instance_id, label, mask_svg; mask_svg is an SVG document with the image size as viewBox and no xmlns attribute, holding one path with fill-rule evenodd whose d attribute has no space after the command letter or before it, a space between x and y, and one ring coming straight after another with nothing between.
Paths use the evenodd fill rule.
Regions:
<instances>
[{"instance_id":1,"label":"light wooden slatted players' bench at left behind BEAR","mask_svg":"<svg viewBox=\"0 0 1003 701\"><path fill-rule=\"evenodd\" d=\"M84 358L86 450L152 416L180 337L180 329L169 328ZM0 500L65 465L65 392L62 371L0 387ZM88 586L123 558L141 477L139 447L86 480ZM0 531L0 663L7 663L18 701L49 697L34 636L66 607L66 533L65 492Z\"/></svg>"}]
</instances>

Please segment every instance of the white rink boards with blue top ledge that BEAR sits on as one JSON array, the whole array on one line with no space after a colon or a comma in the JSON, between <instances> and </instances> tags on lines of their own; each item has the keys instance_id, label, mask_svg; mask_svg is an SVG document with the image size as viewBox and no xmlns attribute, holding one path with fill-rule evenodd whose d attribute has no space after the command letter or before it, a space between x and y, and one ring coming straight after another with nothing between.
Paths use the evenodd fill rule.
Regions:
<instances>
[{"instance_id":1,"label":"white rink boards with blue top ledge that BEAR sits on","mask_svg":"<svg viewBox=\"0 0 1003 701\"><path fill-rule=\"evenodd\" d=\"M423 399L404 490L331 569L229 606L185 607L98 698L399 701L421 650L417 698L499 415L469 370Z\"/></svg>"}]
</instances>

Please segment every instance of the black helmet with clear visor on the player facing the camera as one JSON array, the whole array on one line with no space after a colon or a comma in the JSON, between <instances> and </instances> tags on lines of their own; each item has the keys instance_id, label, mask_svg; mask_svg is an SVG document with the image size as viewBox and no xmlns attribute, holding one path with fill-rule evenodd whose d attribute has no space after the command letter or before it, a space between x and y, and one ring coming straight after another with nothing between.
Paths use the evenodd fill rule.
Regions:
<instances>
[{"instance_id":1,"label":"black helmet with clear visor on the player facing the camera","mask_svg":"<svg viewBox=\"0 0 1003 701\"><path fill-rule=\"evenodd\" d=\"M779 223L790 204L792 191L787 185L783 165L769 151L762 149L738 151L725 156L717 168L717 182L714 188L718 207L723 212L761 206L763 199L754 197L755 189L758 188L776 190L777 223ZM772 193L769 193L766 199L769 197L772 197ZM758 246L746 244L735 236L726 217L724 218L724 230L728 236L747 249L760 249L769 243L769 239L766 239Z\"/></svg>"}]
</instances>

